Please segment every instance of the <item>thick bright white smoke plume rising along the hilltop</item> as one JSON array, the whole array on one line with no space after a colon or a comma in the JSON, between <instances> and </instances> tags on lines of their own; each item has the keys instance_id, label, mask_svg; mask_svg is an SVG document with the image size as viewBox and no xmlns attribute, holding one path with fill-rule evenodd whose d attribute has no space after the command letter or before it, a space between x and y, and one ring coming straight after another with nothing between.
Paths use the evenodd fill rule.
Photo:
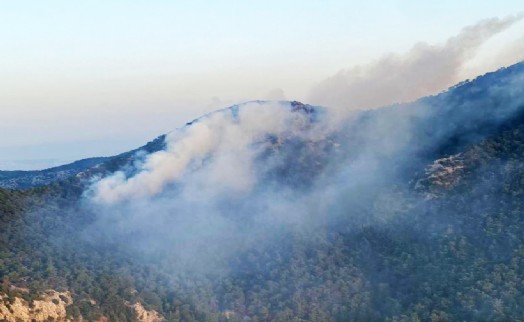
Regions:
<instances>
[{"instance_id":1,"label":"thick bright white smoke plume rising along the hilltop","mask_svg":"<svg viewBox=\"0 0 524 322\"><path fill-rule=\"evenodd\" d=\"M205 187L200 189L249 191L258 151L255 143L263 142L267 135L313 135L314 131L303 131L310 125L306 113L293 112L284 102L246 103L241 108L212 113L170 133L165 151L153 153L138 164L137 174L128 178L118 171L98 181L91 193L99 203L150 197L194 168L205 176Z\"/></svg>"}]
</instances>

